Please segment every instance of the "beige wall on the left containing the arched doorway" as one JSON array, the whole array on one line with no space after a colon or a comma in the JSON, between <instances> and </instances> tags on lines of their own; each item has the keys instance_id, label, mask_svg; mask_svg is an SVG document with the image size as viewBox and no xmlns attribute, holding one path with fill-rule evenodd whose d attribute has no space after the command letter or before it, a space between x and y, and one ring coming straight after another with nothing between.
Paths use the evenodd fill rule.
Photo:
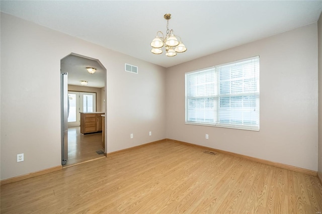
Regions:
<instances>
[{"instance_id":1,"label":"beige wall on the left containing the arched doorway","mask_svg":"<svg viewBox=\"0 0 322 214\"><path fill-rule=\"evenodd\" d=\"M107 69L107 152L166 138L165 68L4 13L1 32L1 179L61 165L60 60L70 53Z\"/></svg>"}]
</instances>

